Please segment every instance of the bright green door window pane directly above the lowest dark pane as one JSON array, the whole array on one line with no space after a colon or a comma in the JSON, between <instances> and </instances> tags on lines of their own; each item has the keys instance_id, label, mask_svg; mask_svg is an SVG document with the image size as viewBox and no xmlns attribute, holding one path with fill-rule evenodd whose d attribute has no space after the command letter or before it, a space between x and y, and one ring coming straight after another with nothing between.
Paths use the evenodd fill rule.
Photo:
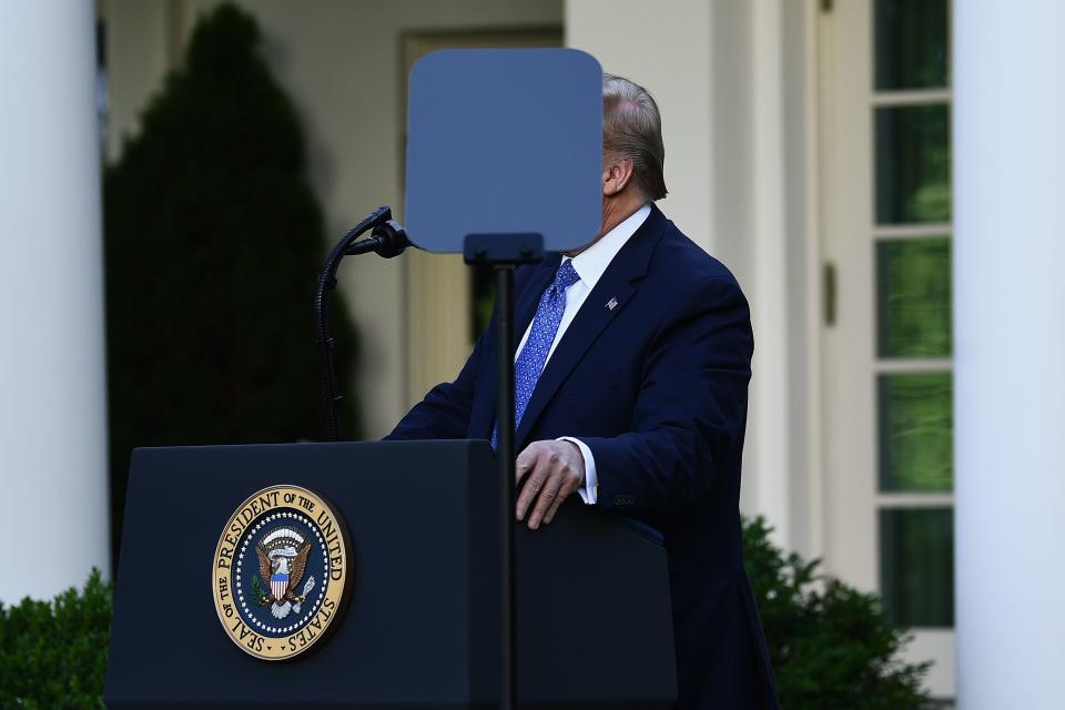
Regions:
<instances>
[{"instance_id":1,"label":"bright green door window pane directly above the lowest dark pane","mask_svg":"<svg viewBox=\"0 0 1065 710\"><path fill-rule=\"evenodd\" d=\"M881 375L878 389L880 489L951 490L951 374Z\"/></svg>"}]
</instances>

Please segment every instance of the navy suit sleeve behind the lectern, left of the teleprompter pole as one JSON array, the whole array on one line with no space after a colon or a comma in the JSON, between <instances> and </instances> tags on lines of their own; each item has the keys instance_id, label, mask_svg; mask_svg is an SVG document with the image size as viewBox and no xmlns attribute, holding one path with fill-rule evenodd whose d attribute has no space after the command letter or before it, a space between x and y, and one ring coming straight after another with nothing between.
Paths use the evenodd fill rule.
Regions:
<instances>
[{"instance_id":1,"label":"navy suit sleeve behind the lectern, left of the teleprompter pole","mask_svg":"<svg viewBox=\"0 0 1065 710\"><path fill-rule=\"evenodd\" d=\"M469 413L474 405L474 383L490 331L491 327L477 339L474 352L455 382L439 384L430 389L384 440L466 438Z\"/></svg>"}]
</instances>

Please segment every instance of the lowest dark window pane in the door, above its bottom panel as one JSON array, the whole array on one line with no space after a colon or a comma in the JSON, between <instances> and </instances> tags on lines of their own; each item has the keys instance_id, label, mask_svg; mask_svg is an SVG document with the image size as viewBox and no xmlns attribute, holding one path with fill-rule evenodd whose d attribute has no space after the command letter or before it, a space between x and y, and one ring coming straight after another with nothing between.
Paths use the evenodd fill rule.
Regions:
<instances>
[{"instance_id":1,"label":"lowest dark window pane in the door, above its bottom panel","mask_svg":"<svg viewBox=\"0 0 1065 710\"><path fill-rule=\"evenodd\" d=\"M880 587L900 626L954 626L954 511L880 511Z\"/></svg>"}]
</instances>

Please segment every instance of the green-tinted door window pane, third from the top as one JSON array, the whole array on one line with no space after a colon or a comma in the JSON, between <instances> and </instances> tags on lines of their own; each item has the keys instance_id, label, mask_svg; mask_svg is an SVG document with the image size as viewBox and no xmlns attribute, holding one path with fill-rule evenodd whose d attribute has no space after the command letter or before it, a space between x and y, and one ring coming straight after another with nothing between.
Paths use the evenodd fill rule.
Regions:
<instances>
[{"instance_id":1,"label":"green-tinted door window pane, third from the top","mask_svg":"<svg viewBox=\"0 0 1065 710\"><path fill-rule=\"evenodd\" d=\"M881 357L951 354L951 243L946 237L876 245Z\"/></svg>"}]
</instances>

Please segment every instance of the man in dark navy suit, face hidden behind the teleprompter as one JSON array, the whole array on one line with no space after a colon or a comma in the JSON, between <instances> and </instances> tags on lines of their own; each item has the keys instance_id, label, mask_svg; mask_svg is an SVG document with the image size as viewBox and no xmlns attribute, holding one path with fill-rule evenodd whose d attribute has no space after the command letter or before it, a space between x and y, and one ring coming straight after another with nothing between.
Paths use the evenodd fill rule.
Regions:
<instances>
[{"instance_id":1,"label":"man in dark navy suit, face hidden behind the teleprompter","mask_svg":"<svg viewBox=\"0 0 1065 710\"><path fill-rule=\"evenodd\" d=\"M605 77L602 231L515 276L516 516L548 525L577 493L661 530L677 707L775 708L738 508L750 311L732 274L655 206L663 158L653 99ZM388 438L495 440L495 327Z\"/></svg>"}]
</instances>

